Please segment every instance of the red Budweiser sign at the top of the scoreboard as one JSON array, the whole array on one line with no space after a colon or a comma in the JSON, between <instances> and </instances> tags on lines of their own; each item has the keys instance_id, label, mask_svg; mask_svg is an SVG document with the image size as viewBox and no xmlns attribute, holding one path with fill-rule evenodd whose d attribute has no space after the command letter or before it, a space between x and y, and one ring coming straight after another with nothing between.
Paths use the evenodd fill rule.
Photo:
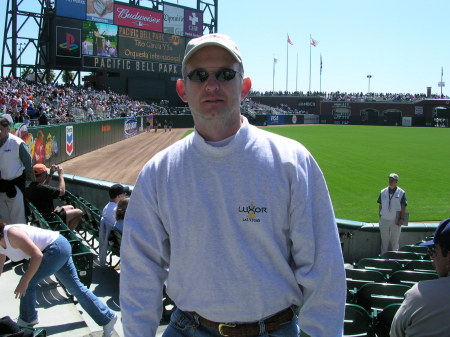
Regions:
<instances>
[{"instance_id":1,"label":"red Budweiser sign at the top of the scoreboard","mask_svg":"<svg viewBox=\"0 0 450 337\"><path fill-rule=\"evenodd\" d=\"M163 21L161 12L114 4L115 25L162 32Z\"/></svg>"}]
</instances>

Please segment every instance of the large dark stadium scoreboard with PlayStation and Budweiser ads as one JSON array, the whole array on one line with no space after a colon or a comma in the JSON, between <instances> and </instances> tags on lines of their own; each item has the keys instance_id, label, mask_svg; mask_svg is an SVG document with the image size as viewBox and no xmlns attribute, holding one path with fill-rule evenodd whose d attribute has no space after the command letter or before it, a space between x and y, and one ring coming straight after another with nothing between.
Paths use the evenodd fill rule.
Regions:
<instances>
[{"instance_id":1,"label":"large dark stadium scoreboard with PlayStation and Budweiser ads","mask_svg":"<svg viewBox=\"0 0 450 337\"><path fill-rule=\"evenodd\" d=\"M140 87L146 78L154 89L150 96L170 98L159 86L181 76L187 42L203 35L203 12L161 5L155 10L113 0L55 0L55 15L40 40L47 46L47 62L53 69L102 73L105 87L135 97L144 94Z\"/></svg>"}]
</instances>

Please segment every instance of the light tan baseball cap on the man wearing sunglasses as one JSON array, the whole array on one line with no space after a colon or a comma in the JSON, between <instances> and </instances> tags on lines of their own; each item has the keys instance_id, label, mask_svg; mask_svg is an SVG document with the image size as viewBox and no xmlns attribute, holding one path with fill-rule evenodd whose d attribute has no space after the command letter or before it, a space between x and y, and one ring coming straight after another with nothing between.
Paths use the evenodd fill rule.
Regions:
<instances>
[{"instance_id":1,"label":"light tan baseball cap on the man wearing sunglasses","mask_svg":"<svg viewBox=\"0 0 450 337\"><path fill-rule=\"evenodd\" d=\"M186 68L186 63L197 51L204 47L217 46L227 50L240 64L242 64L241 53L239 48L234 43L234 41L224 34L207 34L189 41L184 52L183 63L181 65L181 72L184 74L184 69Z\"/></svg>"}]
</instances>

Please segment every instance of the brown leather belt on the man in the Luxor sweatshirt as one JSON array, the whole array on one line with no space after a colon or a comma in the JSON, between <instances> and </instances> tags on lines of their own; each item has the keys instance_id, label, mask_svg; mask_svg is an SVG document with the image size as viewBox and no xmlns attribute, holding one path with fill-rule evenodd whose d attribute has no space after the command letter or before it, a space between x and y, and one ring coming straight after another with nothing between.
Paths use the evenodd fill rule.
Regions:
<instances>
[{"instance_id":1,"label":"brown leather belt on the man in the Luxor sweatshirt","mask_svg":"<svg viewBox=\"0 0 450 337\"><path fill-rule=\"evenodd\" d=\"M294 317L294 312L291 308L280 311L264 320L265 331L270 332L278 329L280 324L290 321L292 317ZM249 337L259 335L260 333L258 322L242 324L217 323L201 316L199 316L199 322L209 328L217 330L221 336Z\"/></svg>"}]
</instances>

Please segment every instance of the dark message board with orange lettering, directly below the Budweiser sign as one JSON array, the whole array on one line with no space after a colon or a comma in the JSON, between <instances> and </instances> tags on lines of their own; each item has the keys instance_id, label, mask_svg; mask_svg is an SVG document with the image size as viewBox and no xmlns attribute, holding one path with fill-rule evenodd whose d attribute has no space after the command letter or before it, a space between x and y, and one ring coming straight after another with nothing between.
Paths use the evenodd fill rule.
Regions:
<instances>
[{"instance_id":1,"label":"dark message board with orange lettering, directly below the Budweiser sign","mask_svg":"<svg viewBox=\"0 0 450 337\"><path fill-rule=\"evenodd\" d=\"M119 27L119 57L167 63L181 63L184 37L147 30Z\"/></svg>"}]
</instances>

